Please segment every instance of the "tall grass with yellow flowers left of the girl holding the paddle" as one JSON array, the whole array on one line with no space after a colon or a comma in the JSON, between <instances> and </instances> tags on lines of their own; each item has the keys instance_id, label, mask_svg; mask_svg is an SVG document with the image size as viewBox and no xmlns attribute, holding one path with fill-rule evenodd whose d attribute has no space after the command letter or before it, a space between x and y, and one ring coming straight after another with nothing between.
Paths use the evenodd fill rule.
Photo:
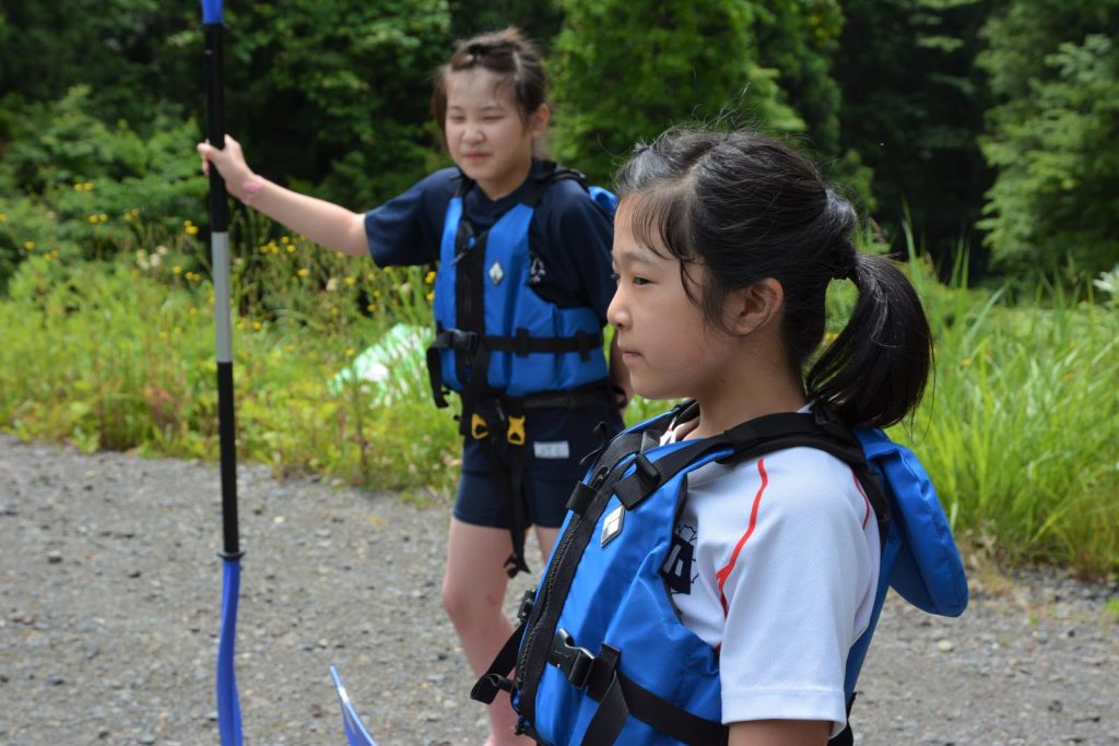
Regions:
<instances>
[{"instance_id":1,"label":"tall grass with yellow flowers left of the girl holding the paddle","mask_svg":"<svg viewBox=\"0 0 1119 746\"><path fill-rule=\"evenodd\" d=\"M198 244L76 266L48 252L26 259L0 303L0 427L84 451L215 459L215 301ZM254 271L257 257L267 262ZM238 457L442 494L457 435L426 383L405 385L392 406L378 405L375 383L332 385L395 321L430 324L424 270L369 268L298 236L236 259Z\"/></svg>"}]
</instances>

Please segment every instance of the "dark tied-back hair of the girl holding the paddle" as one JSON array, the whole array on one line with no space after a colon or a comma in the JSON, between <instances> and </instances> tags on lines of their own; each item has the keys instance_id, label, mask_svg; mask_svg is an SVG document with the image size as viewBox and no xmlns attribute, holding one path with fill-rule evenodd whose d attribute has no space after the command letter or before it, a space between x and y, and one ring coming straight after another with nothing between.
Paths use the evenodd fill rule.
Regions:
<instances>
[{"instance_id":1,"label":"dark tied-back hair of the girl holding the paddle","mask_svg":"<svg viewBox=\"0 0 1119 746\"><path fill-rule=\"evenodd\" d=\"M509 27L500 31L480 34L466 41L459 41L454 54L435 73L435 89L431 95L431 113L445 133L446 76L459 70L487 69L502 78L500 85L513 88L520 119L528 117L545 103L547 79L539 49L520 34L520 29Z\"/></svg>"}]
</instances>

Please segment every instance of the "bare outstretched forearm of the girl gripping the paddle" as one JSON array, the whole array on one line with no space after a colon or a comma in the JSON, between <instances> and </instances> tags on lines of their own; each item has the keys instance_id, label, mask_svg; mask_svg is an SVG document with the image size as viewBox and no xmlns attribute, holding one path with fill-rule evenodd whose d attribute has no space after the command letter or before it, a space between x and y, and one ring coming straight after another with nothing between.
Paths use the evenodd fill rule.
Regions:
<instances>
[{"instance_id":1,"label":"bare outstretched forearm of the girl gripping the paddle","mask_svg":"<svg viewBox=\"0 0 1119 746\"><path fill-rule=\"evenodd\" d=\"M342 254L361 255L368 252L365 216L360 213L284 189L255 174L239 187L236 196L245 205L316 244Z\"/></svg>"}]
</instances>

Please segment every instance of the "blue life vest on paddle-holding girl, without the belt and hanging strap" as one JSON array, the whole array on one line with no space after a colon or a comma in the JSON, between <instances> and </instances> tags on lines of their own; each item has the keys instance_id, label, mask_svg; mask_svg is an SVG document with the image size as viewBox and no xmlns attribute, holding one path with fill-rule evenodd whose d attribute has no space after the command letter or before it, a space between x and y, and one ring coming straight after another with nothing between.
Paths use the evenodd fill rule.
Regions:
<instances>
[{"instance_id":1,"label":"blue life vest on paddle-holding girl, without the belt and hanging strap","mask_svg":"<svg viewBox=\"0 0 1119 746\"><path fill-rule=\"evenodd\" d=\"M446 208L435 277L433 347L439 350L442 385L457 391L473 385L479 391L523 397L605 378L602 323L595 311L561 308L529 285L528 227L544 191L562 178L580 174L546 162L521 202L490 228L476 232L463 216L463 196L472 183L463 177ZM596 204L612 207L609 191L591 189Z\"/></svg>"}]
</instances>

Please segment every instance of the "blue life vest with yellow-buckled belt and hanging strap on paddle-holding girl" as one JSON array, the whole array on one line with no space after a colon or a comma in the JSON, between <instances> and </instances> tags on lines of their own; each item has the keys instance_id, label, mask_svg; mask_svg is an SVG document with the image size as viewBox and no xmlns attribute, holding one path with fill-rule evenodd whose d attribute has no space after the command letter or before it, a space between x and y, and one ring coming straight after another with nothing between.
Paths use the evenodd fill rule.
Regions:
<instances>
[{"instance_id":1,"label":"blue life vest with yellow-buckled belt and hanging strap on paddle-holding girl","mask_svg":"<svg viewBox=\"0 0 1119 746\"><path fill-rule=\"evenodd\" d=\"M505 476L500 499L513 540L506 561L510 576L528 569L521 484L526 412L600 405L612 397L598 313L585 305L561 308L530 286L529 226L544 192L558 179L575 179L613 215L613 193L587 188L577 171L545 161L520 202L489 228L476 230L463 215L463 197L473 186L463 176L446 208L435 275L435 339L427 349L432 397L445 407L444 389L459 391L460 432L485 442L492 473ZM493 447L499 435L513 446L505 455Z\"/></svg>"}]
</instances>

